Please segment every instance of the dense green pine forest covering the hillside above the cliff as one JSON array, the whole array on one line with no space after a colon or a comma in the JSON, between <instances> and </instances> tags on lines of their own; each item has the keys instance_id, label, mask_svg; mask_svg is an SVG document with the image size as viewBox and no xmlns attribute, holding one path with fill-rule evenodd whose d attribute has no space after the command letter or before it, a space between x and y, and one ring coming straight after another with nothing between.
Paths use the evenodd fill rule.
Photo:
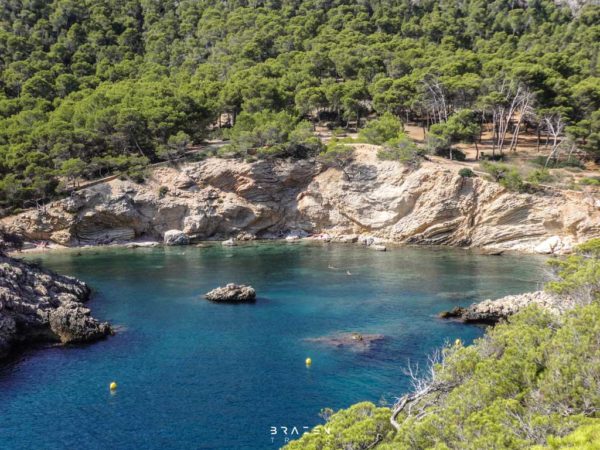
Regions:
<instances>
[{"instance_id":1,"label":"dense green pine forest covering the hillside above the cliff","mask_svg":"<svg viewBox=\"0 0 600 450\"><path fill-rule=\"evenodd\" d=\"M310 156L310 122L373 112L442 149L487 124L494 152L527 128L553 161L597 158L599 23L550 0L6 0L0 207L138 173L219 126L232 154Z\"/></svg>"}]
</instances>

